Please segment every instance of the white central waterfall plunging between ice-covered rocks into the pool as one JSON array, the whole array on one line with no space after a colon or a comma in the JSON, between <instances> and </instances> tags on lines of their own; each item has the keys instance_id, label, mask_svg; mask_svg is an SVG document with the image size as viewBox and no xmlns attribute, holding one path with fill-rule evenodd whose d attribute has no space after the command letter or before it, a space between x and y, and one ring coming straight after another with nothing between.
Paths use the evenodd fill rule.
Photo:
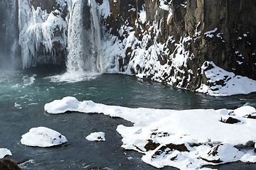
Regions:
<instances>
[{"instance_id":1,"label":"white central waterfall plunging between ice-covered rocks into the pool","mask_svg":"<svg viewBox=\"0 0 256 170\"><path fill-rule=\"evenodd\" d=\"M100 23L95 0L73 0L68 23L68 72L101 72Z\"/></svg>"}]
</instances>

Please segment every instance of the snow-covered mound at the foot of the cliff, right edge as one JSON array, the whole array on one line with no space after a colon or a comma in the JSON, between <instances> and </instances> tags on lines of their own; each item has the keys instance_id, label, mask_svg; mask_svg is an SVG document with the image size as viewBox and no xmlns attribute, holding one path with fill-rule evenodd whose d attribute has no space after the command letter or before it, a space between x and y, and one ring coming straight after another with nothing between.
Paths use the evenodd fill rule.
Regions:
<instances>
[{"instance_id":1,"label":"snow-covered mound at the foot of the cliff, right edge","mask_svg":"<svg viewBox=\"0 0 256 170\"><path fill-rule=\"evenodd\" d=\"M213 68L208 69L209 66ZM205 74L208 80L207 84L201 84L201 87L196 89L197 92L211 96L231 96L256 92L255 80L227 72L217 67L213 62L204 62L201 70L201 74ZM222 81L223 84L221 84Z\"/></svg>"}]
</instances>

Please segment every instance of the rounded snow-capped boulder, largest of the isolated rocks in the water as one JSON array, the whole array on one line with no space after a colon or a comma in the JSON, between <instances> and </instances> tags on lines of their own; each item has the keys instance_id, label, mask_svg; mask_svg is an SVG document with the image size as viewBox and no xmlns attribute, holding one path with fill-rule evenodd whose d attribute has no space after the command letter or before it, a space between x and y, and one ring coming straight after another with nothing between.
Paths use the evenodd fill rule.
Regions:
<instances>
[{"instance_id":1,"label":"rounded snow-capped boulder, largest of the isolated rocks in the water","mask_svg":"<svg viewBox=\"0 0 256 170\"><path fill-rule=\"evenodd\" d=\"M21 144L30 147L53 147L68 142L65 136L46 127L31 128L21 136Z\"/></svg>"}]
</instances>

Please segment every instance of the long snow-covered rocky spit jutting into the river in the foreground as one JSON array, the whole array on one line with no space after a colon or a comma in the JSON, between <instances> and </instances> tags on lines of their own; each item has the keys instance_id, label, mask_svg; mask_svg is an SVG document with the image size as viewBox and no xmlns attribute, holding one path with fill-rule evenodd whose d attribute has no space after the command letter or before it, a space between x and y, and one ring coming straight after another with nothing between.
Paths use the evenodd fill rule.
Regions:
<instances>
[{"instance_id":1,"label":"long snow-covered rocky spit jutting into the river in the foreground","mask_svg":"<svg viewBox=\"0 0 256 170\"><path fill-rule=\"evenodd\" d=\"M256 162L254 148L238 147L246 146L250 141L255 143L256 120L247 118L247 115L255 115L252 106L235 110L175 111L106 106L65 97L46 103L45 110L51 114L65 111L103 113L131 121L134 123L132 127L117 127L117 132L122 135L122 147L141 152L144 154L142 160L157 168L174 166L178 169L200 169L206 164L239 160ZM220 121L229 117L240 122L229 124Z\"/></svg>"}]
</instances>

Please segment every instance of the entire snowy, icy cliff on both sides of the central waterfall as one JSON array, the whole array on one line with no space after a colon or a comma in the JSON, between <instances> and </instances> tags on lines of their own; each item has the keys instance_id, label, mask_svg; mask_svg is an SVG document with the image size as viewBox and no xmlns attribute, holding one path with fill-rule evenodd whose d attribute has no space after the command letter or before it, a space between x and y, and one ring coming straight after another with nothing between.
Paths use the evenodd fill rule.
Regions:
<instances>
[{"instance_id":1,"label":"entire snowy, icy cliff on both sides of the central waterfall","mask_svg":"<svg viewBox=\"0 0 256 170\"><path fill-rule=\"evenodd\" d=\"M240 88L237 84L242 82L249 84L247 88L255 89L252 81L256 79L255 1L96 2L102 34L97 70L102 73L136 74L143 79L213 96L229 95L225 91L236 91ZM41 28L38 28L38 23L34 23L33 29L29 28L32 37L22 37L24 26L22 22L19 24L23 53L36 59L41 56L43 60L37 59L33 63L60 63L67 58L72 3L79 1L29 0L26 4L32 13L44 16L41 17ZM92 7L87 4L83 8L83 21L87 21ZM55 24L48 25L48 21L55 21ZM26 22L31 21L27 19ZM81 24L88 26L87 23ZM36 40L29 41L30 46L22 47L28 39ZM36 50L30 47L36 47ZM44 60L42 56L50 60ZM29 63L23 64L23 68L27 65ZM240 93L250 91L237 91Z\"/></svg>"}]
</instances>

